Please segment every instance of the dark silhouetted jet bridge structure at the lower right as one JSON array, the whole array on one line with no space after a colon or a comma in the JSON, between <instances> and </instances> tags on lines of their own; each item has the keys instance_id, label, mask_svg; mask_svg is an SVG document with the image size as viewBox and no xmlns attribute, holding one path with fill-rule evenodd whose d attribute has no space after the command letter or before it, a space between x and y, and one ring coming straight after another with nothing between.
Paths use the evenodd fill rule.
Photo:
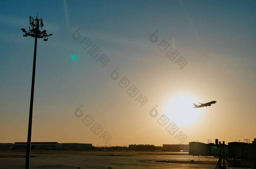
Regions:
<instances>
[{"instance_id":1,"label":"dark silhouetted jet bridge structure at the lower right","mask_svg":"<svg viewBox=\"0 0 256 169\"><path fill-rule=\"evenodd\" d=\"M225 167L225 161L229 167L251 167L256 168L256 139L252 143L221 142L215 139L215 144L204 144L200 142L189 143L189 154L193 156L217 156L219 161L216 168ZM221 162L223 160L223 166Z\"/></svg>"}]
</instances>

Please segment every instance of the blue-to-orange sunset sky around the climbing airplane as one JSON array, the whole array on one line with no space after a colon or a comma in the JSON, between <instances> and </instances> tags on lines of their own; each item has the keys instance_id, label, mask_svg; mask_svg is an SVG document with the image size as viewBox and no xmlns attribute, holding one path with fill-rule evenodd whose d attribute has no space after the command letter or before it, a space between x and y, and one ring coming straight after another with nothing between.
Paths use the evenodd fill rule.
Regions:
<instances>
[{"instance_id":1,"label":"blue-to-orange sunset sky around the climbing airplane","mask_svg":"<svg viewBox=\"0 0 256 169\"><path fill-rule=\"evenodd\" d=\"M37 13L53 36L37 42L31 141L253 140L255 8L253 0L1 1L0 142L27 139L34 38L21 28Z\"/></svg>"}]
</instances>

